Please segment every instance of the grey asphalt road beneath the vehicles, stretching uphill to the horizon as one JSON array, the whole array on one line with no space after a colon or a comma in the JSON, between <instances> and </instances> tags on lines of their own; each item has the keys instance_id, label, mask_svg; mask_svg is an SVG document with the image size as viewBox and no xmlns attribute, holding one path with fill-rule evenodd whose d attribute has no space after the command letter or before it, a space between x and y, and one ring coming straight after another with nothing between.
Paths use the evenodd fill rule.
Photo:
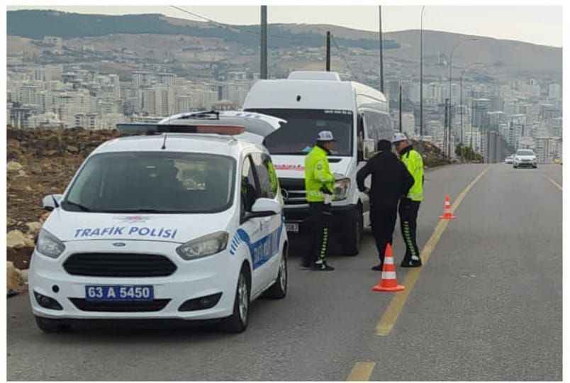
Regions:
<instances>
[{"instance_id":1,"label":"grey asphalt road beneath the vehicles, stretching uphill to the horizon","mask_svg":"<svg viewBox=\"0 0 570 383\"><path fill-rule=\"evenodd\" d=\"M487 166L427 172L420 248L444 195L455 201ZM11 298L8 379L345 380L352 372L370 380L560 380L561 181L560 165L488 166L417 271L387 335L375 328L396 295L371 292L379 273L369 270L376 255L367 233L358 257L331 257L335 272L298 270L293 255L286 299L255 301L250 327L238 335L214 328L45 335L28 297ZM397 272L403 282L408 270Z\"/></svg>"}]
</instances>

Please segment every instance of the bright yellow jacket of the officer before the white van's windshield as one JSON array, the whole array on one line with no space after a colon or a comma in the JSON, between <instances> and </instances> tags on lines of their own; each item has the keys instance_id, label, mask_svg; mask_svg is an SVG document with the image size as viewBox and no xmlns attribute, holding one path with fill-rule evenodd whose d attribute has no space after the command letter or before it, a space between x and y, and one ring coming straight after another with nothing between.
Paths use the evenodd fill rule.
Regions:
<instances>
[{"instance_id":1,"label":"bright yellow jacket of the officer before the white van's windshield","mask_svg":"<svg viewBox=\"0 0 570 383\"><path fill-rule=\"evenodd\" d=\"M322 187L333 192L335 176L328 167L327 152L318 145L305 157L305 191L308 202L323 202L325 194Z\"/></svg>"}]
</instances>

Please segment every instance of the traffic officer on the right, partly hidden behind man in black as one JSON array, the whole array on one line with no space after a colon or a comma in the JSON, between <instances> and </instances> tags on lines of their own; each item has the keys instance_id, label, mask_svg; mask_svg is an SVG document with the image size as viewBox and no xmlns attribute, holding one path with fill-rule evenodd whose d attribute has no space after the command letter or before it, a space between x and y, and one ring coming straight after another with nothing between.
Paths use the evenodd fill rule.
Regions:
<instances>
[{"instance_id":1,"label":"traffic officer on the right, partly hidden behind man in black","mask_svg":"<svg viewBox=\"0 0 570 383\"><path fill-rule=\"evenodd\" d=\"M406 165L414 179L413 186L408 191L408 195L400 200L398 208L402 236L406 243L406 255L401 267L420 267L422 260L416 242L416 221L418 221L418 211L423 200L423 159L420 153L413 149L403 133L396 133L392 143L400 155L400 160Z\"/></svg>"}]
</instances>

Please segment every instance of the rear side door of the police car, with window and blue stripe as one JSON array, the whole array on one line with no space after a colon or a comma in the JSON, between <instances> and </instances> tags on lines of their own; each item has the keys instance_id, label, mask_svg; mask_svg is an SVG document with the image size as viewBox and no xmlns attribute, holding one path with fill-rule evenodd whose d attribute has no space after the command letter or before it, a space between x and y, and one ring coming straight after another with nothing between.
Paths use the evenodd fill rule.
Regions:
<instances>
[{"instance_id":1,"label":"rear side door of the police car, with window and blue stripe","mask_svg":"<svg viewBox=\"0 0 570 383\"><path fill-rule=\"evenodd\" d=\"M259 182L259 198L269 198L279 201L279 181L276 177L271 158L266 153L252 153L255 175ZM282 213L273 216L259 218L263 233L261 256L257 263L262 269L262 278L267 286L275 281L279 271L279 254L282 232Z\"/></svg>"}]
</instances>

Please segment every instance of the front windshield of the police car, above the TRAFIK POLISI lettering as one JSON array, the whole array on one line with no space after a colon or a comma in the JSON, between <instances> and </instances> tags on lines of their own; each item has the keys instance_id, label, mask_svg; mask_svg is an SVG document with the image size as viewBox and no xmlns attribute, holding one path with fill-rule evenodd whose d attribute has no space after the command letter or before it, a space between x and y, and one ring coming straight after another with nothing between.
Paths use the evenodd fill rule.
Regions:
<instances>
[{"instance_id":1,"label":"front windshield of the police car, above the TRAFIK POLISI lettering","mask_svg":"<svg viewBox=\"0 0 570 383\"><path fill-rule=\"evenodd\" d=\"M62 208L86 213L216 213L233 197L235 160L178 152L94 155Z\"/></svg>"}]
</instances>

